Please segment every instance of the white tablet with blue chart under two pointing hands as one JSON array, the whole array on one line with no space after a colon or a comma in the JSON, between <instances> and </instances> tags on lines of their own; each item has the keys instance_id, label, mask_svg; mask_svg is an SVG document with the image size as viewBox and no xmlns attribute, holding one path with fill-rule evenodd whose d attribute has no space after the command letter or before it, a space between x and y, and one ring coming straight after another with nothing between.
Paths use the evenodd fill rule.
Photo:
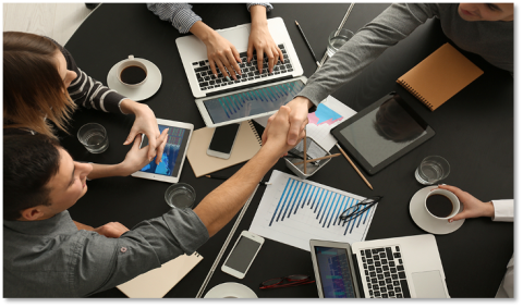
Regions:
<instances>
[{"instance_id":1,"label":"white tablet with blue chart under two pointing hands","mask_svg":"<svg viewBox=\"0 0 523 308\"><path fill-rule=\"evenodd\" d=\"M163 130L169 128L161 162L156 164L156 159L153 159L149 164L132 175L161 182L178 183L194 125L162 119L157 119L157 122L160 133L163 132ZM146 147L148 144L149 140L147 139L147 136L143 135L139 147Z\"/></svg>"}]
</instances>

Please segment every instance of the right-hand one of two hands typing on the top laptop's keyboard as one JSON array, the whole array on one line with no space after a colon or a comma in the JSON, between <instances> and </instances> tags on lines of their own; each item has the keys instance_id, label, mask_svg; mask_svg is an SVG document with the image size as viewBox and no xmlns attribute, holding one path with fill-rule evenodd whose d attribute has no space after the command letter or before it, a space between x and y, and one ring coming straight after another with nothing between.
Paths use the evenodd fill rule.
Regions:
<instances>
[{"instance_id":1,"label":"right-hand one of two hands typing on the top laptop's keyboard","mask_svg":"<svg viewBox=\"0 0 523 308\"><path fill-rule=\"evenodd\" d=\"M263 8L263 7L262 7ZM265 8L263 8L265 10ZM251 35L248 36L248 47L247 47L247 62L251 63L253 59L254 50L256 49L256 58L258 63L258 72L262 74L264 66L264 54L267 56L268 60L268 71L272 73L272 69L278 59L283 63L283 53L281 52L278 45L276 45L272 36L270 35L269 27L267 22L265 24L252 24Z\"/></svg>"}]
</instances>

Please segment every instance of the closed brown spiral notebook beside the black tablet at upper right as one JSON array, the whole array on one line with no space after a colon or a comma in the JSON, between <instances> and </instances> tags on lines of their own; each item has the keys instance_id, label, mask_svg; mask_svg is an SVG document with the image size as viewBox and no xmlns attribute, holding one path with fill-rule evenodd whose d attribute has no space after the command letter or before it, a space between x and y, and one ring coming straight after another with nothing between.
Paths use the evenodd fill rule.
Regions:
<instances>
[{"instance_id":1,"label":"closed brown spiral notebook beside the black tablet at upper right","mask_svg":"<svg viewBox=\"0 0 523 308\"><path fill-rule=\"evenodd\" d=\"M479 67L447 42L397 83L434 111L482 74Z\"/></svg>"}]
</instances>

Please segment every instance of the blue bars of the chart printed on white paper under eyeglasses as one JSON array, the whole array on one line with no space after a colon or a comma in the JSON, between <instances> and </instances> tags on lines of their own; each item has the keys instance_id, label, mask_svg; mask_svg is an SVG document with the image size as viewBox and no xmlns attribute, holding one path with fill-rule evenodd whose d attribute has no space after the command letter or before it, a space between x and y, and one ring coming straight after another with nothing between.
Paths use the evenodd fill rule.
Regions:
<instances>
[{"instance_id":1,"label":"blue bars of the chart printed on white paper under eyeglasses","mask_svg":"<svg viewBox=\"0 0 523 308\"><path fill-rule=\"evenodd\" d=\"M349 222L342 222L340 214L349 209L349 213L361 210L357 199L344 196L302 181L289 178L285 188L278 200L278 206L269 222L284 221L291 214L296 214L297 209L308 209L315 214L315 219L321 227L340 226L344 229L343 235L351 234L354 227L360 227L367 222L369 210ZM352 208L351 208L352 207Z\"/></svg>"}]
</instances>

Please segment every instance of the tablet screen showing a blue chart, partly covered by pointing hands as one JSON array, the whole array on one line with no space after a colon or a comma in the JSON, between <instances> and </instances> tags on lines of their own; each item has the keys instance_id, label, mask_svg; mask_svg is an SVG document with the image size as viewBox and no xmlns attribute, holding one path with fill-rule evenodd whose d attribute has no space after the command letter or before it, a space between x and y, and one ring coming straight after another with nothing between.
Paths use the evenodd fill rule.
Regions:
<instances>
[{"instance_id":1,"label":"tablet screen showing a blue chart, partly covered by pointing hands","mask_svg":"<svg viewBox=\"0 0 523 308\"><path fill-rule=\"evenodd\" d=\"M182 163L183 153L185 152L185 148L187 147L190 131L161 124L158 124L158 127L160 128L160 133L163 132L163 130L169 128L169 132L167 134L167 144L163 148L163 155L161 156L161 162L159 164L156 164L155 158L141 171L167 176L178 176L178 174L180 173L180 165ZM147 136L144 136L142 147L145 147L148 144L149 140L147 139Z\"/></svg>"}]
</instances>

